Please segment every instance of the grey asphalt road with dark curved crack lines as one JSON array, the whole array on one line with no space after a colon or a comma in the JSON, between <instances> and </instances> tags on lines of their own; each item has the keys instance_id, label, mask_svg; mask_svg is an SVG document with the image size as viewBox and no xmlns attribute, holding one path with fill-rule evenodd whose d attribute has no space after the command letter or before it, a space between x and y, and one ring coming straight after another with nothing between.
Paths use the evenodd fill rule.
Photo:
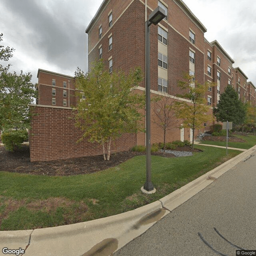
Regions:
<instances>
[{"instance_id":1,"label":"grey asphalt road with dark curved crack lines","mask_svg":"<svg viewBox=\"0 0 256 256\"><path fill-rule=\"evenodd\" d=\"M113 256L235 256L235 246L256 250L256 153Z\"/></svg>"}]
</instances>

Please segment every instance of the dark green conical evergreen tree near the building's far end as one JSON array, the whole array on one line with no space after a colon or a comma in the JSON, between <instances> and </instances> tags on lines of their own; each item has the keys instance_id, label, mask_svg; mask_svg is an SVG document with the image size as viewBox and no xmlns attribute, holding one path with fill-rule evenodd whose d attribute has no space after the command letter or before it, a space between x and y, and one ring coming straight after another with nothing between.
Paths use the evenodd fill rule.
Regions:
<instances>
[{"instance_id":1,"label":"dark green conical evergreen tree near the building's far end","mask_svg":"<svg viewBox=\"0 0 256 256\"><path fill-rule=\"evenodd\" d=\"M228 121L234 124L244 122L246 109L231 85L228 85L225 91L220 94L220 100L216 108L213 109L213 113L217 121Z\"/></svg>"}]
</instances>

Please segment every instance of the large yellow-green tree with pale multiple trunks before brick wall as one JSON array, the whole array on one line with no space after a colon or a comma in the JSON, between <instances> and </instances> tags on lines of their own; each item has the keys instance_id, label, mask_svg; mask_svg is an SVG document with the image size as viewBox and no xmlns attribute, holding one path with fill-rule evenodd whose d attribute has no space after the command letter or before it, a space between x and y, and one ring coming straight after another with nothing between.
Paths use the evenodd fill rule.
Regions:
<instances>
[{"instance_id":1,"label":"large yellow-green tree with pale multiple trunks before brick wall","mask_svg":"<svg viewBox=\"0 0 256 256\"><path fill-rule=\"evenodd\" d=\"M142 115L138 109L144 108L145 97L132 93L132 90L141 80L140 68L128 75L123 72L109 74L104 71L101 60L94 63L88 74L80 69L76 71L76 87L80 90L81 100L76 106L75 125L84 131L80 141L89 137L90 142L100 143L104 160L110 159L110 146L115 138L140 130L138 121ZM85 96L83 100L82 96Z\"/></svg>"}]
</instances>

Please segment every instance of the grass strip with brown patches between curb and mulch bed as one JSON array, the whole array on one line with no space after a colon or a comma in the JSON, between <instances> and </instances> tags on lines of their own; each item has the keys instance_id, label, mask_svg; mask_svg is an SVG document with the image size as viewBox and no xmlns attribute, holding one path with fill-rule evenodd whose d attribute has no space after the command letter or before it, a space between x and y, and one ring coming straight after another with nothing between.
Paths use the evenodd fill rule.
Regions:
<instances>
[{"instance_id":1,"label":"grass strip with brown patches between curb and mulch bed","mask_svg":"<svg viewBox=\"0 0 256 256\"><path fill-rule=\"evenodd\" d=\"M0 230L60 226L103 218L154 202L240 154L207 146L193 156L152 156L155 194L142 194L145 156L108 170L78 176L0 172Z\"/></svg>"}]
</instances>

